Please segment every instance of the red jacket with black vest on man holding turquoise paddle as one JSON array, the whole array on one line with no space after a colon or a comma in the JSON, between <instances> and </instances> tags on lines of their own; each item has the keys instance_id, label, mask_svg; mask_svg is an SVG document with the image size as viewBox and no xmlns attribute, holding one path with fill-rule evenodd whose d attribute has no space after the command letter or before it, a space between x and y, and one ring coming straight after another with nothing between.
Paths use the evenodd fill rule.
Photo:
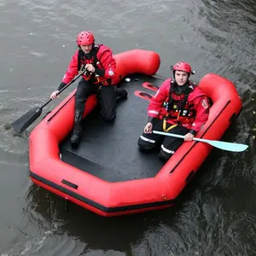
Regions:
<instances>
[{"instance_id":1,"label":"red jacket with black vest on man holding turquoise paddle","mask_svg":"<svg viewBox=\"0 0 256 256\"><path fill-rule=\"evenodd\" d=\"M207 96L196 84L185 84L182 93L178 92L177 86L172 79L166 79L160 85L148 105L148 119L165 118L167 123L183 125L195 135L208 119L210 106Z\"/></svg>"}]
</instances>

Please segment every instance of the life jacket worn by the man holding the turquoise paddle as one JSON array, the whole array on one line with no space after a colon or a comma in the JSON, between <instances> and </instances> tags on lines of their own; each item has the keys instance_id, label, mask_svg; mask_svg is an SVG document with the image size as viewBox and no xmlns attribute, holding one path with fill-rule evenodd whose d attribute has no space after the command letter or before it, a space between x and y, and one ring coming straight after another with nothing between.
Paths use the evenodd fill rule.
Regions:
<instances>
[{"instance_id":1,"label":"life jacket worn by the man holding the turquoise paddle","mask_svg":"<svg viewBox=\"0 0 256 256\"><path fill-rule=\"evenodd\" d=\"M189 82L189 86L182 93L177 91L177 84L171 81L169 99L165 108L167 111L166 119L172 119L177 124L193 122L195 119L194 104L188 102L189 93L195 90L196 84Z\"/></svg>"}]
</instances>

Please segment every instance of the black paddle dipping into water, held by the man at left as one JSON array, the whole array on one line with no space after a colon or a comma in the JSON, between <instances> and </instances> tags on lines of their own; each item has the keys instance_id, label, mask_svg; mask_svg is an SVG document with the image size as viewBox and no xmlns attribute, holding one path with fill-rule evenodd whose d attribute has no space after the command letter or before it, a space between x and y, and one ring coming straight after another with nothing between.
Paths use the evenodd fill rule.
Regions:
<instances>
[{"instance_id":1,"label":"black paddle dipping into water, held by the man at left","mask_svg":"<svg viewBox=\"0 0 256 256\"><path fill-rule=\"evenodd\" d=\"M59 95L63 90L65 90L70 84L73 84L77 79L79 79L80 76L82 76L86 72L86 69L84 69L81 73L79 73L78 76L76 76L71 82L66 84L58 93ZM17 131L18 133L22 133L26 130L26 128L31 125L42 113L43 108L51 102L52 99L49 99L48 102L44 103L41 107L34 107L27 111L25 114L23 114L19 119L17 119L14 123L12 123L12 127Z\"/></svg>"}]
</instances>

